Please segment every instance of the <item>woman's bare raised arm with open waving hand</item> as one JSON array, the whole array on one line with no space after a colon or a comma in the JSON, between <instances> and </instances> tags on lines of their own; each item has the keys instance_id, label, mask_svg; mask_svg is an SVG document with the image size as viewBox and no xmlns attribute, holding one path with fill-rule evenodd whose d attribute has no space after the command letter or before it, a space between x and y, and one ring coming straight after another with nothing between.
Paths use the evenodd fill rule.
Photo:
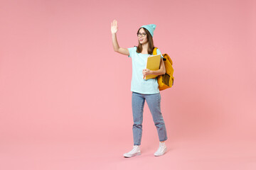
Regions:
<instances>
[{"instance_id":1,"label":"woman's bare raised arm with open waving hand","mask_svg":"<svg viewBox=\"0 0 256 170\"><path fill-rule=\"evenodd\" d=\"M115 52L119 52L122 55L129 55L129 50L127 48L119 47L117 42L117 21L114 20L111 23L111 33L112 33L112 43Z\"/></svg>"}]
</instances>

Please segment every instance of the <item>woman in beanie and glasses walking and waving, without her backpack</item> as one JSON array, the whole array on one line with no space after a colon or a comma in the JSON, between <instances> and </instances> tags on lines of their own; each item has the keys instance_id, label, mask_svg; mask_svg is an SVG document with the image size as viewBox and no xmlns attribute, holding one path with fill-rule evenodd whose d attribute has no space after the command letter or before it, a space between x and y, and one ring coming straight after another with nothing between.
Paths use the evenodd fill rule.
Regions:
<instances>
[{"instance_id":1,"label":"woman in beanie and glasses walking and waving, without her backpack","mask_svg":"<svg viewBox=\"0 0 256 170\"><path fill-rule=\"evenodd\" d=\"M132 115L134 124L132 127L134 146L130 152L124 154L124 157L133 157L141 154L139 145L142 140L142 120L143 120L143 108L144 102L149 106L149 110L156 125L156 130L159 135L159 149L154 153L154 156L161 156L166 152L166 145L164 143L167 140L166 127L164 118L161 114L160 102L161 96L159 93L159 84L157 79L143 79L143 77L149 74L161 75L165 74L163 56L160 50L156 50L157 54L161 55L160 69L152 71L145 69L146 58L152 55L154 50L153 35L156 25L150 24L142 26L137 32L139 40L138 47L123 48L119 47L117 42L117 21L114 20L111 23L112 43L115 52L119 52L122 55L128 55L132 58Z\"/></svg>"}]
</instances>

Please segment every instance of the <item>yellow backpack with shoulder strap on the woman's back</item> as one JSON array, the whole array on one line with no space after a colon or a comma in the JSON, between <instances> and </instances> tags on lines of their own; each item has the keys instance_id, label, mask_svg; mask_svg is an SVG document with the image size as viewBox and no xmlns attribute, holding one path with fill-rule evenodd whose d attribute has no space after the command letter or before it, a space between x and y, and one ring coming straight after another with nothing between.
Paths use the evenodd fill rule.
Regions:
<instances>
[{"instance_id":1,"label":"yellow backpack with shoulder strap on the woman's back","mask_svg":"<svg viewBox=\"0 0 256 170\"><path fill-rule=\"evenodd\" d=\"M153 55L157 55L156 49L157 48L155 47L153 50ZM173 62L171 61L169 55L164 54L163 57L166 74L159 75L157 77L160 91L168 89L174 85L174 68L172 67Z\"/></svg>"}]
</instances>

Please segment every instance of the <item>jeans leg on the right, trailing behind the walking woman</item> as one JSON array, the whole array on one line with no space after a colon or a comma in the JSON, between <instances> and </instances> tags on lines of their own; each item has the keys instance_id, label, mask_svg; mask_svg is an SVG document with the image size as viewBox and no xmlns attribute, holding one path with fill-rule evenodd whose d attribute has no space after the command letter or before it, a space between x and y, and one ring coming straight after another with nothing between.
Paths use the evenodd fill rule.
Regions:
<instances>
[{"instance_id":1,"label":"jeans leg on the right, trailing behind the walking woman","mask_svg":"<svg viewBox=\"0 0 256 170\"><path fill-rule=\"evenodd\" d=\"M159 135L159 141L164 142L167 140L166 134L166 126L164 123L163 115L161 114L161 95L159 94L147 94L146 95L146 103L149 106L149 110L154 120L154 124L156 125L156 130Z\"/></svg>"}]
</instances>

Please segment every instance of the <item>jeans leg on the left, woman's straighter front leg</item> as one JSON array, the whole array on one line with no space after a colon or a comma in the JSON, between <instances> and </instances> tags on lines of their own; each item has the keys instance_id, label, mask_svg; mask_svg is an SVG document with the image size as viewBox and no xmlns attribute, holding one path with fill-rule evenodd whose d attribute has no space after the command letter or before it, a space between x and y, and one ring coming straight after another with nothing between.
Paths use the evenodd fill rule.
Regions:
<instances>
[{"instance_id":1,"label":"jeans leg on the left, woman's straighter front leg","mask_svg":"<svg viewBox=\"0 0 256 170\"><path fill-rule=\"evenodd\" d=\"M141 94L132 92L132 115L134 124L132 132L134 137L134 145L141 145L142 141L142 121L145 98Z\"/></svg>"}]
</instances>

